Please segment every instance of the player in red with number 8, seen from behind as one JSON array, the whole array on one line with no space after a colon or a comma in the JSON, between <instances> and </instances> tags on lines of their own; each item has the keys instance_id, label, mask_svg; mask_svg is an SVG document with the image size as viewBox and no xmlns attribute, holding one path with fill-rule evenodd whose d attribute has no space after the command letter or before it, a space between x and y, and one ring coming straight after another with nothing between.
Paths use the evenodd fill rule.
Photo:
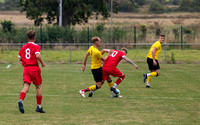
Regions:
<instances>
[{"instance_id":1,"label":"player in red with number 8, seen from behind","mask_svg":"<svg viewBox=\"0 0 200 125\"><path fill-rule=\"evenodd\" d=\"M42 102L42 78L41 78L41 70L39 68L38 61L41 63L42 67L45 67L44 62L40 56L40 46L35 44L35 31L31 30L27 33L27 38L29 42L24 45L19 51L19 61L22 62L22 66L24 67L23 72L23 89L20 93L19 98L19 110L21 113L24 113L23 101L28 92L31 82L36 87L36 100L37 107L36 112L45 113L45 111L41 107Z\"/></svg>"}]
</instances>

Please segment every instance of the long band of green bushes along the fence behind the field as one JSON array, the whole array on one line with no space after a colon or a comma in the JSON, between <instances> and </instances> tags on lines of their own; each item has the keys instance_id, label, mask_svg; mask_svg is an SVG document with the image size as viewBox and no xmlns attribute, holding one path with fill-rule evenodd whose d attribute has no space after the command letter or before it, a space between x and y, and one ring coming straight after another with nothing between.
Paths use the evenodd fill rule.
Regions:
<instances>
[{"instance_id":1,"label":"long band of green bushes along the fence behind the field","mask_svg":"<svg viewBox=\"0 0 200 125\"><path fill-rule=\"evenodd\" d=\"M185 42L198 42L199 39L199 25L190 27L183 27L183 37ZM36 31L37 43L88 43L93 36L99 36L102 43L109 43L111 41L110 28L99 24L89 29L84 27L76 30L70 27L59 26L43 26L42 32L40 28L15 28L10 32L4 32L3 28L0 30L0 42L6 43L26 43L26 33L29 30ZM169 42L180 42L180 28L163 29L159 22L155 22L153 26L140 25L137 26L137 42L152 42L157 40L157 36L164 32L169 38ZM173 31L173 32L172 32ZM41 34L42 33L42 34ZM174 37L173 37L174 36ZM113 27L113 42L115 43L132 43L134 42L134 27ZM50 46L53 47L53 46Z\"/></svg>"}]
</instances>

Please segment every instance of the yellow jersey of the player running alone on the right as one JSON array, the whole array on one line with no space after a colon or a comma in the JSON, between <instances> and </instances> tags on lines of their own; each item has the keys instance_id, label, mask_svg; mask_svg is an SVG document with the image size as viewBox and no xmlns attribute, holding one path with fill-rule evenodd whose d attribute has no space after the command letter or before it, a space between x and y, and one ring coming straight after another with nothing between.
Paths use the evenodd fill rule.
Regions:
<instances>
[{"instance_id":1,"label":"yellow jersey of the player running alone on the right","mask_svg":"<svg viewBox=\"0 0 200 125\"><path fill-rule=\"evenodd\" d=\"M153 48L156 47L156 52L155 52L155 60L158 60L158 54L160 53L160 51L162 50L162 45L160 41L155 42L152 46L151 49L149 50L149 53L147 55L147 58L153 59L152 57L152 51Z\"/></svg>"}]
</instances>

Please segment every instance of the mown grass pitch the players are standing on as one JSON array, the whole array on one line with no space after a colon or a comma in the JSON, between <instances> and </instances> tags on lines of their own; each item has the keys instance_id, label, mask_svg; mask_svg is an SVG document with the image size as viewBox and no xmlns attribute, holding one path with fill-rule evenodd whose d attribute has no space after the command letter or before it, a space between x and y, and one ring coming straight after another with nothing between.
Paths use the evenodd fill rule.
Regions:
<instances>
[{"instance_id":1,"label":"mown grass pitch the players are standing on","mask_svg":"<svg viewBox=\"0 0 200 125\"><path fill-rule=\"evenodd\" d=\"M0 64L0 124L199 124L199 64L161 64L161 76L150 89L142 83L147 65L139 70L120 64L126 75L118 86L123 98L111 98L107 83L92 98L78 91L94 84L90 67L79 64L49 64L42 68L45 114L35 112L35 87L25 101L25 114L18 111L22 89L22 66ZM113 79L116 80L116 79Z\"/></svg>"}]
</instances>

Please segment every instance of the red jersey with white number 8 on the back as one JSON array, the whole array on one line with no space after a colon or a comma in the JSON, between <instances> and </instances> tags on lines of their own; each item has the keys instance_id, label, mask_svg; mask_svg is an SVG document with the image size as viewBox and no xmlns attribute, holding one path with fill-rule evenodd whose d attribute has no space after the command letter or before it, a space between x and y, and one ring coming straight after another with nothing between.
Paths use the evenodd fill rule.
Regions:
<instances>
[{"instance_id":1,"label":"red jersey with white number 8 on the back","mask_svg":"<svg viewBox=\"0 0 200 125\"><path fill-rule=\"evenodd\" d=\"M39 66L36 54L40 54L40 46L34 42L28 42L19 51L18 57L22 59L22 66Z\"/></svg>"}]
</instances>

